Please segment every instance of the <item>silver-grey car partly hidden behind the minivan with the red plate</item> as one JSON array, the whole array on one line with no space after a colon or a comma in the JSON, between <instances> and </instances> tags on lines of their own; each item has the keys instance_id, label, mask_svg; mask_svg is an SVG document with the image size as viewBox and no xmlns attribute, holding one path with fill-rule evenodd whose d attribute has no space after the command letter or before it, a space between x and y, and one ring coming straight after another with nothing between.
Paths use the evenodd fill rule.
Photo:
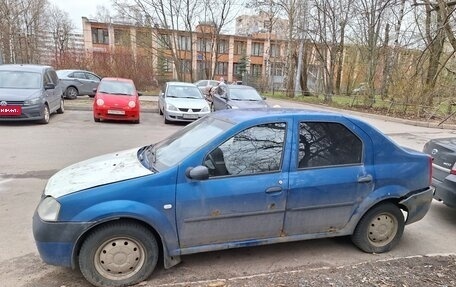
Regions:
<instances>
[{"instance_id":1,"label":"silver-grey car partly hidden behind the minivan with the red plate","mask_svg":"<svg viewBox=\"0 0 456 287\"><path fill-rule=\"evenodd\" d=\"M95 96L93 91L98 87L101 77L84 70L58 70L63 90L65 91L65 98L76 99L78 96L88 95Z\"/></svg>"}]
</instances>

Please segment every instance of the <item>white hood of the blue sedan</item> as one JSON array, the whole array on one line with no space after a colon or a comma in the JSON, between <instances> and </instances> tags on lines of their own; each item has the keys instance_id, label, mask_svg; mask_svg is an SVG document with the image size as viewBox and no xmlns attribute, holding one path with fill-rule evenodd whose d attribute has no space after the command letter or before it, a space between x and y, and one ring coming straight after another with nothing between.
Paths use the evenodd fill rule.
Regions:
<instances>
[{"instance_id":1,"label":"white hood of the blue sedan","mask_svg":"<svg viewBox=\"0 0 456 287\"><path fill-rule=\"evenodd\" d=\"M139 162L138 149L110 153L70 165L49 179L44 193L58 198L90 187L152 174Z\"/></svg>"}]
</instances>

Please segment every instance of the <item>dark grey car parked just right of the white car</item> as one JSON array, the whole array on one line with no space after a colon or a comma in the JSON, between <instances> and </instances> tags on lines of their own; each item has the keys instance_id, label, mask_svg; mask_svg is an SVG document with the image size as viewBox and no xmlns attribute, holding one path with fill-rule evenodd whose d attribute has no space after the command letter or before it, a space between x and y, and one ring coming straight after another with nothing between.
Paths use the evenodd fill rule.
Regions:
<instances>
[{"instance_id":1,"label":"dark grey car parked just right of the white car","mask_svg":"<svg viewBox=\"0 0 456 287\"><path fill-rule=\"evenodd\" d=\"M222 84L212 94L212 111L266 107L264 98L250 86Z\"/></svg>"}]
</instances>

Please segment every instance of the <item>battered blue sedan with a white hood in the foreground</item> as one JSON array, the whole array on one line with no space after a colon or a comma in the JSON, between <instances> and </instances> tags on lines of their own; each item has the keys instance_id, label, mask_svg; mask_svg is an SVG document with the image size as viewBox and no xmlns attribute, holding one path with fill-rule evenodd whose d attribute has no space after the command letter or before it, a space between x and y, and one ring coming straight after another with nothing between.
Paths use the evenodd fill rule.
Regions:
<instances>
[{"instance_id":1,"label":"battered blue sedan with a white hood in the foreground","mask_svg":"<svg viewBox=\"0 0 456 287\"><path fill-rule=\"evenodd\" d=\"M432 161L346 115L226 110L64 168L33 219L41 258L96 286L198 252L347 236L386 252L430 208ZM406 216L404 216L404 214Z\"/></svg>"}]
</instances>

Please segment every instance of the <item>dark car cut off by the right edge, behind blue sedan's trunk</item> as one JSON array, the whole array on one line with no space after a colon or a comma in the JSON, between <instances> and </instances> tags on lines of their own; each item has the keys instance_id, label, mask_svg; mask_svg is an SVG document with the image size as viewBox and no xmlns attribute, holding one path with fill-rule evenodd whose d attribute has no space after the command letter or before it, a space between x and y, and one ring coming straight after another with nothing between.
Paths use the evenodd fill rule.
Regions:
<instances>
[{"instance_id":1,"label":"dark car cut off by the right edge, behind blue sedan's trunk","mask_svg":"<svg viewBox=\"0 0 456 287\"><path fill-rule=\"evenodd\" d=\"M428 141L424 152L431 155L434 198L456 208L456 138Z\"/></svg>"}]
</instances>

